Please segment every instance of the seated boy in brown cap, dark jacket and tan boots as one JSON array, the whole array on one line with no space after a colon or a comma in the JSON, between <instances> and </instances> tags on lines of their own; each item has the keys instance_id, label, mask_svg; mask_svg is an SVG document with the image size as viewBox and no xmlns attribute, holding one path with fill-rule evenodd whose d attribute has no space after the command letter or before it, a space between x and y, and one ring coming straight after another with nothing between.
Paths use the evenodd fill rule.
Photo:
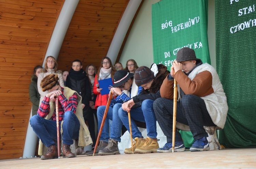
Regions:
<instances>
[{"instance_id":1,"label":"seated boy in brown cap, dark jacket and tan boots","mask_svg":"<svg viewBox=\"0 0 256 169\"><path fill-rule=\"evenodd\" d=\"M135 71L134 79L137 86L143 88L139 95L132 97L122 105L118 115L129 130L128 111L131 114L131 128L134 139L135 153L156 153L159 148L156 132L156 117L153 102L160 97L160 87L170 72L163 64L153 64L151 69L141 66ZM143 136L134 120L146 123L147 138ZM130 130L129 130L130 131ZM126 148L124 153L132 154L132 148Z\"/></svg>"}]
</instances>

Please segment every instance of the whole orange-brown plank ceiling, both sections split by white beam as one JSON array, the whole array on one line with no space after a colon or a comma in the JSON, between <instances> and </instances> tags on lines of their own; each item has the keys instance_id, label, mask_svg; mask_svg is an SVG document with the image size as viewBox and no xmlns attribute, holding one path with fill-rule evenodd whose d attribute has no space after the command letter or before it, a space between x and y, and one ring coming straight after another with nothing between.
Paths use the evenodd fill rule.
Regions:
<instances>
[{"instance_id":1,"label":"whole orange-brown plank ceiling, both sections split by white beam","mask_svg":"<svg viewBox=\"0 0 256 169\"><path fill-rule=\"evenodd\" d=\"M65 0L0 0L0 160L22 156L31 110L29 84L42 65ZM129 0L80 0L58 56L58 70L80 59L99 66Z\"/></svg>"}]
</instances>

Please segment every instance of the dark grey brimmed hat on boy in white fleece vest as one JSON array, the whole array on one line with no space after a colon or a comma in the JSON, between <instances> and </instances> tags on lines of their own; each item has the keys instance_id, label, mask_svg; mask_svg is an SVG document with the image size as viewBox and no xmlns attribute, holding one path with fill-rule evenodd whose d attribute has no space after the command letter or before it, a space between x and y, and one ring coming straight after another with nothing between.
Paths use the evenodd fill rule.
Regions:
<instances>
[{"instance_id":1,"label":"dark grey brimmed hat on boy in white fleece vest","mask_svg":"<svg viewBox=\"0 0 256 169\"><path fill-rule=\"evenodd\" d=\"M193 49L184 47L177 52L176 60L177 62L184 62L189 60L200 60L200 59L196 57L196 53Z\"/></svg>"}]
</instances>

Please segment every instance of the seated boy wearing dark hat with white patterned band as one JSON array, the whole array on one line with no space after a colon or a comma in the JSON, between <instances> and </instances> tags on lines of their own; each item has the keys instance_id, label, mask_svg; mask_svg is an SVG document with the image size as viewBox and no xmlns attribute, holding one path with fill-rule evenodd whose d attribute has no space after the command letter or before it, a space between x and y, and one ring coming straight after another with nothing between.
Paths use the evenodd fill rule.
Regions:
<instances>
[{"instance_id":1,"label":"seated boy wearing dark hat with white patterned band","mask_svg":"<svg viewBox=\"0 0 256 169\"><path fill-rule=\"evenodd\" d=\"M124 70L119 70L114 74L114 84L111 90L113 97L106 116L106 120L100 135L100 144L96 149L95 155L114 155L120 154L118 149L118 141L121 141L122 121L118 117L118 110L122 109L122 103L136 96L142 90L141 87L136 86L133 79L133 73L128 73ZM114 99L114 96L117 96ZM103 114L106 106L99 106L97 109L98 130L100 129ZM109 128L109 119L112 120L112 128ZM110 133L109 133L110 131ZM110 136L109 136L110 135ZM86 151L86 155L93 155L92 151Z\"/></svg>"}]
</instances>

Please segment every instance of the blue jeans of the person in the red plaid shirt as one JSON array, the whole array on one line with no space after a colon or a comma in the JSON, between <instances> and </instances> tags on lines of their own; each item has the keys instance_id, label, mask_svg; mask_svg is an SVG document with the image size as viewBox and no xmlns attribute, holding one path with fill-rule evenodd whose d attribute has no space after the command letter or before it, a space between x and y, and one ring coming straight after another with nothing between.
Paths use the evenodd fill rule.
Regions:
<instances>
[{"instance_id":1,"label":"blue jeans of the person in the red plaid shirt","mask_svg":"<svg viewBox=\"0 0 256 169\"><path fill-rule=\"evenodd\" d=\"M60 126L61 121L59 121ZM41 139L42 143L49 147L55 145L54 140L57 140L57 124L56 121L46 120L38 115L32 116L30 125L35 134ZM60 129L60 127L59 127ZM66 111L63 117L62 125L62 142L63 144L73 144L72 139L79 137L80 122L76 115L71 111ZM60 135L61 138L61 135Z\"/></svg>"}]
</instances>

